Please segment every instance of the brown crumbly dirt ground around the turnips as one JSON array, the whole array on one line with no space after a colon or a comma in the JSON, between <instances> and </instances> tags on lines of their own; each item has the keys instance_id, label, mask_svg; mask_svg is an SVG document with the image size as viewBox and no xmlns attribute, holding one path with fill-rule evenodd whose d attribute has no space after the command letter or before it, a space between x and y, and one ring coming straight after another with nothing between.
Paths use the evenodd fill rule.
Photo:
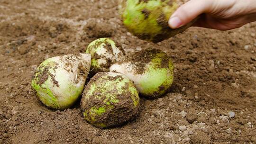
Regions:
<instances>
[{"instance_id":1,"label":"brown crumbly dirt ground around the turnips","mask_svg":"<svg viewBox=\"0 0 256 144\"><path fill-rule=\"evenodd\" d=\"M46 108L30 86L37 66L112 37L127 54L164 50L174 83L141 98L138 117L101 130L80 106ZM192 27L158 44L132 36L117 0L0 0L0 144L256 144L256 23L231 31Z\"/></svg>"}]
</instances>

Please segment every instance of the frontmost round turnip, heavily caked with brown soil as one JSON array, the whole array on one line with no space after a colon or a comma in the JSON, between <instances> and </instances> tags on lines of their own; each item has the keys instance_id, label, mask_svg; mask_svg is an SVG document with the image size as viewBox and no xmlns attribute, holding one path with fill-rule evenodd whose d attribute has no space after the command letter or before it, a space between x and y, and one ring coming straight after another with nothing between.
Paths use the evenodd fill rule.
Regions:
<instances>
[{"instance_id":1,"label":"frontmost round turnip, heavily caked with brown soil","mask_svg":"<svg viewBox=\"0 0 256 144\"><path fill-rule=\"evenodd\" d=\"M84 119L91 125L100 128L119 126L137 115L139 96L127 76L99 72L85 87L81 107Z\"/></svg>"}]
</instances>

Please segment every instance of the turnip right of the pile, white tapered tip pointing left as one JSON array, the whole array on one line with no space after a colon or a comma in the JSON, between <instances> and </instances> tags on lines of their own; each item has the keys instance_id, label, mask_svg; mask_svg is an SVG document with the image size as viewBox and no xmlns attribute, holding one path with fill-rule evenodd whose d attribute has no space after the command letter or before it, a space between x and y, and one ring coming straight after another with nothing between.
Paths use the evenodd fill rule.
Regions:
<instances>
[{"instance_id":1,"label":"turnip right of the pile, white tapered tip pointing left","mask_svg":"<svg viewBox=\"0 0 256 144\"><path fill-rule=\"evenodd\" d=\"M174 80L174 63L165 52L149 48L142 50L122 63L113 64L110 72L128 76L137 90L148 98L163 95Z\"/></svg>"}]
</instances>

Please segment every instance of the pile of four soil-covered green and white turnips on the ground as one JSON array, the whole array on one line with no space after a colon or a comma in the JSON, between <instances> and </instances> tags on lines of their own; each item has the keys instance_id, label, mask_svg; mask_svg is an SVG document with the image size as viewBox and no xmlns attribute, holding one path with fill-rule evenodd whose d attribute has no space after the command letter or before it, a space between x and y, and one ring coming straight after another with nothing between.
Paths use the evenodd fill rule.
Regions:
<instances>
[{"instance_id":1,"label":"pile of four soil-covered green and white turnips on the ground","mask_svg":"<svg viewBox=\"0 0 256 144\"><path fill-rule=\"evenodd\" d=\"M31 85L41 102L56 110L71 108L82 97L84 119L108 128L137 116L139 94L158 98L173 79L174 64L165 52L148 48L125 57L113 40L99 38L85 53L46 59L37 67Z\"/></svg>"}]
</instances>

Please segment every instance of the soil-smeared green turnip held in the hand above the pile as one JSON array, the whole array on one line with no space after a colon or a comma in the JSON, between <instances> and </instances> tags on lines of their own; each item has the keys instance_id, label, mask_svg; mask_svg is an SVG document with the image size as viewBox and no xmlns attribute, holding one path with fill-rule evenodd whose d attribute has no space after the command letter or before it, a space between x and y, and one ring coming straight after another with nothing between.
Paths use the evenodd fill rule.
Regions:
<instances>
[{"instance_id":1,"label":"soil-smeared green turnip held in the hand above the pile","mask_svg":"<svg viewBox=\"0 0 256 144\"><path fill-rule=\"evenodd\" d=\"M119 11L128 31L157 43L182 33L194 22L177 29L168 26L168 19L184 1L188 0L119 0Z\"/></svg>"}]
</instances>

